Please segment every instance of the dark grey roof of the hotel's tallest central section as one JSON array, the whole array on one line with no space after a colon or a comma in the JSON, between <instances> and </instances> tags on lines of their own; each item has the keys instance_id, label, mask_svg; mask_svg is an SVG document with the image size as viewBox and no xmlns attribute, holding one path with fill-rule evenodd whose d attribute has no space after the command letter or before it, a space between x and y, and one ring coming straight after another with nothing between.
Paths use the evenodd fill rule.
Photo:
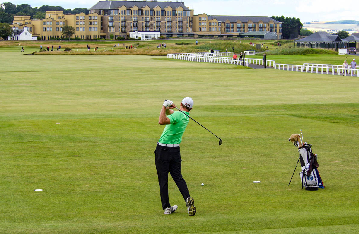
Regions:
<instances>
[{"instance_id":1,"label":"dark grey roof of the hotel's tallest central section","mask_svg":"<svg viewBox=\"0 0 359 234\"><path fill-rule=\"evenodd\" d=\"M149 8L154 8L159 6L164 9L167 6L170 6L172 9L182 6L183 10L188 9L184 3L181 2L152 2L152 1L99 1L93 5L90 10L106 10L106 9L117 9L120 6L126 6L126 8L131 8L132 6L137 6L138 8L143 8L144 6L149 6Z\"/></svg>"}]
</instances>

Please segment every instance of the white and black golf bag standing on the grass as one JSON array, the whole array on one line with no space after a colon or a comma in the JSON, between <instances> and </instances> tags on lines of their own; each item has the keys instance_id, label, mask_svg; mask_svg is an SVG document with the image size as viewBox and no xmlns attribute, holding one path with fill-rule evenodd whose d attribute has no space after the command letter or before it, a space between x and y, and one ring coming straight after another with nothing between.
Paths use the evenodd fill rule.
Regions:
<instances>
[{"instance_id":1,"label":"white and black golf bag standing on the grass","mask_svg":"<svg viewBox=\"0 0 359 234\"><path fill-rule=\"evenodd\" d=\"M312 153L312 145L305 143L299 148L300 165L302 172L299 173L302 179L302 188L306 190L318 190L324 188L323 181L318 172L317 155Z\"/></svg>"}]
</instances>

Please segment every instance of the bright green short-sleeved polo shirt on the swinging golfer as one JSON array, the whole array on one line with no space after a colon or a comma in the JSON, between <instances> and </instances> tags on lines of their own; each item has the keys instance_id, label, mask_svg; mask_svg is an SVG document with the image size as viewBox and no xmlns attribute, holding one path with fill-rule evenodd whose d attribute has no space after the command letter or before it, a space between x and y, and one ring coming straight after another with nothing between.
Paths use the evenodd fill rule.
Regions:
<instances>
[{"instance_id":1,"label":"bright green short-sleeved polo shirt on the swinging golfer","mask_svg":"<svg viewBox=\"0 0 359 234\"><path fill-rule=\"evenodd\" d=\"M190 115L190 113L186 111L183 112ZM169 120L171 120L171 124L168 124L164 127L158 142L163 144L180 144L182 141L183 132L185 132L190 118L180 111L175 111L173 114L170 114L167 117Z\"/></svg>"}]
</instances>

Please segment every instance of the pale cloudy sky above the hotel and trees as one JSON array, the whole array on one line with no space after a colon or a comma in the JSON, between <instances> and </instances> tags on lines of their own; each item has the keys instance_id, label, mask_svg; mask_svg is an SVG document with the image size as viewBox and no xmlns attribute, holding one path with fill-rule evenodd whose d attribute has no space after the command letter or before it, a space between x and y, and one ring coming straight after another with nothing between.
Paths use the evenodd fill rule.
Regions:
<instances>
[{"instance_id":1,"label":"pale cloudy sky above the hotel and trees","mask_svg":"<svg viewBox=\"0 0 359 234\"><path fill-rule=\"evenodd\" d=\"M3 0L13 4L30 4L32 7L42 5L59 5L65 9L90 8L97 0ZM3 2L2 1L2 2ZM149 0L148 0L149 1ZM175 1L175 0L173 0ZM180 0L181 1L181 0ZM251 15L269 16L284 15L284 17L300 18L300 21L336 21L359 20L356 7L347 2L341 4L337 0L182 0L195 14L207 13L210 15Z\"/></svg>"}]
</instances>

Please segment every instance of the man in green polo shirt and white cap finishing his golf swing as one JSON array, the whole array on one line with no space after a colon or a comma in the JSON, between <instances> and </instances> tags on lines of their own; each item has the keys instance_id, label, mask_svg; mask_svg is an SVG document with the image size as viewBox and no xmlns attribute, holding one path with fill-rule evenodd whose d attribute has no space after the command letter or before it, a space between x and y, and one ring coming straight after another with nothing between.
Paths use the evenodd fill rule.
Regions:
<instances>
[{"instance_id":1,"label":"man in green polo shirt and white cap finishing his golf swing","mask_svg":"<svg viewBox=\"0 0 359 234\"><path fill-rule=\"evenodd\" d=\"M160 125L166 125L157 142L155 150L155 164L161 194L162 209L164 210L165 215L172 214L177 210L177 205L171 206L169 204L169 172L186 202L188 214L192 216L196 214L196 207L193 205L194 199L188 192L186 181L182 178L180 153L180 143L182 141L183 132L185 132L189 122L189 117L180 111L172 111L175 107L177 106L173 104L172 101L165 100L158 120ZM192 107L192 98L183 98L180 110L189 115Z\"/></svg>"}]
</instances>

